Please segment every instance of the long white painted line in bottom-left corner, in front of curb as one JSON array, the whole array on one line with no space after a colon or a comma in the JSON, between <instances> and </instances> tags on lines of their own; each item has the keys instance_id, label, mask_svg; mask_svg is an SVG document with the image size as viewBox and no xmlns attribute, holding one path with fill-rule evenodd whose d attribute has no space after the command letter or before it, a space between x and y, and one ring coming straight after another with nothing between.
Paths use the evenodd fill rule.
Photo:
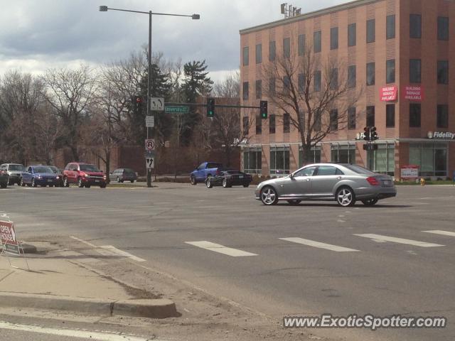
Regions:
<instances>
[{"instance_id":1,"label":"long white painted line in bottom-left corner, in front of curb","mask_svg":"<svg viewBox=\"0 0 455 341\"><path fill-rule=\"evenodd\" d=\"M99 341L146 341L149 338L128 336L124 334L111 334L109 332L90 332L88 330L70 330L62 328L45 328L37 325L19 325L16 323L9 323L0 321L0 329L18 330L22 332L38 332L45 335L57 335L65 337L78 337L90 340Z\"/></svg>"}]
</instances>

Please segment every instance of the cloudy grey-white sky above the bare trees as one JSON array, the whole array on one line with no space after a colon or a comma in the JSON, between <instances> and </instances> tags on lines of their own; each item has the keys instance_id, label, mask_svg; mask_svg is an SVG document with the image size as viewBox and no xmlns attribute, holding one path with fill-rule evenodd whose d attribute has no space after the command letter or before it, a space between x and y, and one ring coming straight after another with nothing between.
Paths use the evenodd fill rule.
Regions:
<instances>
[{"instance_id":1,"label":"cloudy grey-white sky above the bare trees","mask_svg":"<svg viewBox=\"0 0 455 341\"><path fill-rule=\"evenodd\" d=\"M154 16L152 50L183 63L206 60L223 78L239 65L239 30L283 18L285 0L0 0L0 77L7 70L42 73L49 67L100 65L127 58L148 40L149 18L114 9L199 13L200 20ZM346 0L294 0L302 13Z\"/></svg>"}]
</instances>

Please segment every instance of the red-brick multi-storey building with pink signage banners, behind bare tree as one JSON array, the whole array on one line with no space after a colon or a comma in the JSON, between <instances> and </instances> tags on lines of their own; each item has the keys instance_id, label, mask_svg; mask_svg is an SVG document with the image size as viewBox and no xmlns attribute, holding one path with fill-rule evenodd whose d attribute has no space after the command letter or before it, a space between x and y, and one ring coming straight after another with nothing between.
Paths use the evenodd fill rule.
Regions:
<instances>
[{"instance_id":1,"label":"red-brick multi-storey building with pink signage banners, behind bare tree","mask_svg":"<svg viewBox=\"0 0 455 341\"><path fill-rule=\"evenodd\" d=\"M455 1L358 0L245 28L240 31L242 105L259 104L260 98L252 94L267 84L260 78L274 55L298 50L304 41L321 60L346 60L346 73L363 88L355 122L314 146L314 161L357 163L395 178L403 166L417 165L419 175L451 178L454 18ZM284 112L269 106L269 119L274 114ZM242 148L242 169L262 175L296 170L302 165L299 131L285 121L270 124L269 119L250 131ZM365 126L378 129L377 151L363 150L358 134Z\"/></svg>"}]
</instances>

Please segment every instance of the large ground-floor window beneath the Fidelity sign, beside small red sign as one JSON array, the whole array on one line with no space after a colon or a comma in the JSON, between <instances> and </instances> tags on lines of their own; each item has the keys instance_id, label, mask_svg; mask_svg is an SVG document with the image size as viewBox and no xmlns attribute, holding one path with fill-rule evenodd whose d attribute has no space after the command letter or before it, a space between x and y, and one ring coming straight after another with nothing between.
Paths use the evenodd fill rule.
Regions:
<instances>
[{"instance_id":1,"label":"large ground-floor window beneath the Fidelity sign, beside small red sign","mask_svg":"<svg viewBox=\"0 0 455 341\"><path fill-rule=\"evenodd\" d=\"M447 144L410 144L410 164L419 166L419 176L447 176Z\"/></svg>"}]
</instances>

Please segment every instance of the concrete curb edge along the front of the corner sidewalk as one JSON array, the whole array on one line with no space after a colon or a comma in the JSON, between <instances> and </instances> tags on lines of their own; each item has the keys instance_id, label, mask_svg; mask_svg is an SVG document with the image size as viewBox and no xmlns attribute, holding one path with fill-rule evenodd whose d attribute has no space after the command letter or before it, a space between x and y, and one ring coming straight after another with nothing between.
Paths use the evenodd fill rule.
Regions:
<instances>
[{"instance_id":1,"label":"concrete curb edge along the front of the corner sidewalk","mask_svg":"<svg viewBox=\"0 0 455 341\"><path fill-rule=\"evenodd\" d=\"M70 310L77 313L126 315L142 318L178 317L173 301L159 298L154 300L100 300L30 293L0 293L0 307L21 307L52 310Z\"/></svg>"}]
</instances>

